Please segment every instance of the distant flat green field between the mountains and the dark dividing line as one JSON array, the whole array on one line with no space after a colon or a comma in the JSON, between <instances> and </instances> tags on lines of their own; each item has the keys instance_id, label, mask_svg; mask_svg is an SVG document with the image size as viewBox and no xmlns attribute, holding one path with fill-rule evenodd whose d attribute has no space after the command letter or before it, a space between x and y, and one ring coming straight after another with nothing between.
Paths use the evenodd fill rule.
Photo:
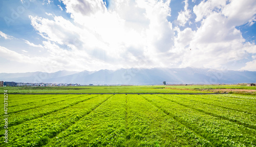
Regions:
<instances>
[{"instance_id":1,"label":"distant flat green field between the mountains and the dark dividing line","mask_svg":"<svg viewBox=\"0 0 256 147\"><path fill-rule=\"evenodd\" d=\"M256 90L256 86L246 85L144 85L144 86L52 86L52 87L0 87L0 94L8 90L12 94L98 94L98 93L157 93L157 94L174 94L174 93L216 93L210 90L215 89L240 89ZM256 92L250 93L256 95Z\"/></svg>"}]
</instances>

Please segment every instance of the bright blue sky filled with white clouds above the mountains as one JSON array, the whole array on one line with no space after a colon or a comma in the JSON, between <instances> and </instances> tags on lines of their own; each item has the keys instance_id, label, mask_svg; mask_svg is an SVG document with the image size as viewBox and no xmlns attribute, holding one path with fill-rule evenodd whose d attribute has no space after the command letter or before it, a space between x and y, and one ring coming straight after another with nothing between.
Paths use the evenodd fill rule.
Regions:
<instances>
[{"instance_id":1,"label":"bright blue sky filled with white clouds above the mountains","mask_svg":"<svg viewBox=\"0 0 256 147\"><path fill-rule=\"evenodd\" d=\"M255 0L2 0L0 73L256 71Z\"/></svg>"}]
</instances>

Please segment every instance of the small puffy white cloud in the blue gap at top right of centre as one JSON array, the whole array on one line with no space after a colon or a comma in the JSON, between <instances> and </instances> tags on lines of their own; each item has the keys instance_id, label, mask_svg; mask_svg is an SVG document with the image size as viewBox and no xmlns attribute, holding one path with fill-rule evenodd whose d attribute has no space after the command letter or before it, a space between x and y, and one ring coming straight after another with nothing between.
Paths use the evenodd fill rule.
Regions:
<instances>
[{"instance_id":1,"label":"small puffy white cloud in the blue gap at top right of centre","mask_svg":"<svg viewBox=\"0 0 256 147\"><path fill-rule=\"evenodd\" d=\"M183 3L185 3L184 11L179 12L177 18L181 26L184 26L191 17L190 10L188 9L188 0L185 0Z\"/></svg>"}]
</instances>

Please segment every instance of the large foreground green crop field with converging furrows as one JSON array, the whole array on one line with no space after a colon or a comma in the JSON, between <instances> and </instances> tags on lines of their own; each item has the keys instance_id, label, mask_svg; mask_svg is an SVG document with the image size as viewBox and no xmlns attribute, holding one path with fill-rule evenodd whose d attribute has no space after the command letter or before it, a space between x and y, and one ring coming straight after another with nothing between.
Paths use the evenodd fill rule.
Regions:
<instances>
[{"instance_id":1,"label":"large foreground green crop field with converging furrows","mask_svg":"<svg viewBox=\"0 0 256 147\"><path fill-rule=\"evenodd\" d=\"M94 87L80 92L96 93ZM163 95L166 91L200 91L152 86L119 88L98 87L102 93L142 93L142 89L148 89L146 92L160 94L9 94L9 143L4 142L2 119L0 146L256 146L253 95ZM11 89L16 93L27 91L10 87L8 93ZM62 93L63 89L72 92L69 87L44 90ZM4 112L2 109L2 116Z\"/></svg>"}]
</instances>

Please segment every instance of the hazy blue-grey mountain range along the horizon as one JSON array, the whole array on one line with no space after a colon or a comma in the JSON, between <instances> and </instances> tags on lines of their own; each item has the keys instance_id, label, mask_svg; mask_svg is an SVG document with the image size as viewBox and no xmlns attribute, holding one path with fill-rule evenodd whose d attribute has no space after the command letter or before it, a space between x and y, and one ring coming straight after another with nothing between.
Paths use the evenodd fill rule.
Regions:
<instances>
[{"instance_id":1,"label":"hazy blue-grey mountain range along the horizon","mask_svg":"<svg viewBox=\"0 0 256 147\"><path fill-rule=\"evenodd\" d=\"M130 68L99 71L58 71L0 73L0 81L79 84L217 84L255 83L255 71L213 70L206 68Z\"/></svg>"}]
</instances>

